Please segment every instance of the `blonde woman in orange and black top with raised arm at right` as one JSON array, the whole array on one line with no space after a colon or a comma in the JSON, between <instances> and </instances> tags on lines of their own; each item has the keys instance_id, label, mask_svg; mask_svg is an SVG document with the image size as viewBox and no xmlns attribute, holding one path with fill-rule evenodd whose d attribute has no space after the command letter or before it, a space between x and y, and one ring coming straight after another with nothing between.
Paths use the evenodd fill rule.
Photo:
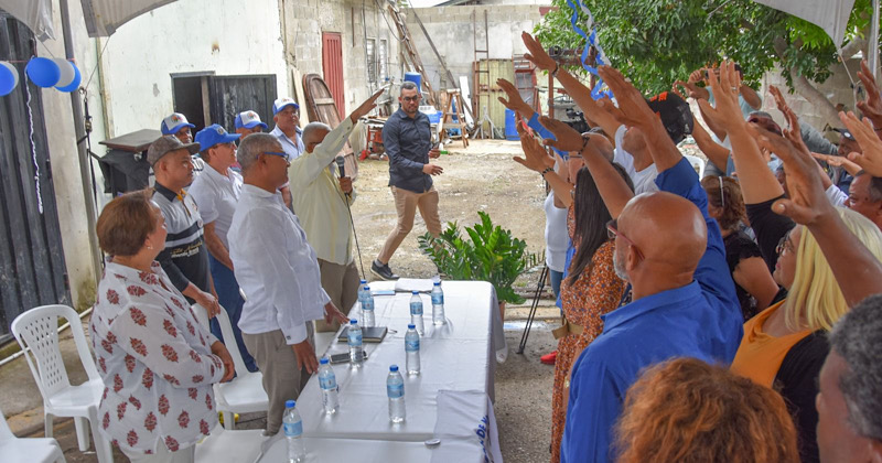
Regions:
<instances>
[{"instance_id":1,"label":"blonde woman in orange and black top with raised arm at right","mask_svg":"<svg viewBox=\"0 0 882 463\"><path fill-rule=\"evenodd\" d=\"M727 74L723 77L727 85L739 84L730 69L724 69L723 74ZM709 109L729 133L747 217L760 250L766 262L774 265L775 281L788 291L784 301L744 324L744 337L732 362L732 372L781 391L795 418L803 462L818 462L815 397L818 374L829 352L825 333L848 311L848 303L811 233L772 211L772 205L784 197L784 190L760 152L755 129L739 117L738 101L721 88L720 82L716 77L710 82L714 90L719 90L714 91L716 96L719 94L717 108L702 107ZM772 93L789 122L786 138L799 143L796 115L776 88L773 87ZM805 146L800 149L807 151ZM798 191L792 193L799 194ZM839 209L839 214L854 239L876 259L882 258L879 228L852 211Z\"/></svg>"}]
</instances>

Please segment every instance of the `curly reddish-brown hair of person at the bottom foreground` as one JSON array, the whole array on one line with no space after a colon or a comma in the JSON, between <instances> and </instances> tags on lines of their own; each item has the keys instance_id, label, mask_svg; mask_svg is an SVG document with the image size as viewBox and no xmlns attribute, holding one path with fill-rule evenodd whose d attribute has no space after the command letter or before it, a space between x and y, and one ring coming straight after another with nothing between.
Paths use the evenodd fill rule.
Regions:
<instances>
[{"instance_id":1,"label":"curly reddish-brown hair of person at the bottom foreground","mask_svg":"<svg viewBox=\"0 0 882 463\"><path fill-rule=\"evenodd\" d=\"M772 389L695 358L648 368L616 423L619 463L797 463L796 430Z\"/></svg>"}]
</instances>

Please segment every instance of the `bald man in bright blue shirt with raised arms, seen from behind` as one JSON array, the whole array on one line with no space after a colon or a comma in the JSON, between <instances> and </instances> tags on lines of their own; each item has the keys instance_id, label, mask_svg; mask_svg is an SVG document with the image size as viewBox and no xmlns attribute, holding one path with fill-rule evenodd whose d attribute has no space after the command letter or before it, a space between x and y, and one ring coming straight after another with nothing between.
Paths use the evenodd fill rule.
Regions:
<instances>
[{"instance_id":1,"label":"bald man in bright blue shirt with raised arms, seen from behind","mask_svg":"<svg viewBox=\"0 0 882 463\"><path fill-rule=\"evenodd\" d=\"M625 392L644 368L684 356L728 364L743 333L720 229L708 215L698 175L643 95L619 72L604 67L601 74L619 101L619 108L602 107L645 138L658 169L659 192L627 201L626 189L607 182L615 175L598 169L610 169L609 162L591 143L583 149L585 164L617 217L609 224L614 263L632 286L633 302L603 316L603 333L573 364L561 443L564 463L615 461L614 424ZM583 144L562 123L549 129L558 139L555 147ZM621 207L623 201L627 203Z\"/></svg>"}]
</instances>

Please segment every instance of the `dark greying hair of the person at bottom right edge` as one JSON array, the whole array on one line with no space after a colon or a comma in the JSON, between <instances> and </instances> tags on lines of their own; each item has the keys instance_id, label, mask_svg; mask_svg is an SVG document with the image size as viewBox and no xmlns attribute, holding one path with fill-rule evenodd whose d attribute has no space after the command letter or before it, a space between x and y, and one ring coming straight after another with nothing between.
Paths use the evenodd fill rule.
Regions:
<instances>
[{"instance_id":1,"label":"dark greying hair of the person at bottom right edge","mask_svg":"<svg viewBox=\"0 0 882 463\"><path fill-rule=\"evenodd\" d=\"M848 366L839 389L848 419L865 438L882 441L882 294L871 295L842 315L830 332L832 351Z\"/></svg>"}]
</instances>

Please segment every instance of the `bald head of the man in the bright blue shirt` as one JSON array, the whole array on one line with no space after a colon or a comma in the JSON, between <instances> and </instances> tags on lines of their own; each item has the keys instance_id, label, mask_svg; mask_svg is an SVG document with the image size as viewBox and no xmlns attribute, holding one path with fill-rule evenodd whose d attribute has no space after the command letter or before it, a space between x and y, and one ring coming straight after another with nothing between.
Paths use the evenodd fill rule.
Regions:
<instances>
[{"instance_id":1,"label":"bald head of the man in the bright blue shirt","mask_svg":"<svg viewBox=\"0 0 882 463\"><path fill-rule=\"evenodd\" d=\"M667 192L642 194L631 200L617 220L619 232L639 249L642 259L626 259L628 280L637 290L671 289L688 284L704 255L708 227L698 207ZM616 240L616 254L619 245ZM623 249L624 251L624 249Z\"/></svg>"}]
</instances>

